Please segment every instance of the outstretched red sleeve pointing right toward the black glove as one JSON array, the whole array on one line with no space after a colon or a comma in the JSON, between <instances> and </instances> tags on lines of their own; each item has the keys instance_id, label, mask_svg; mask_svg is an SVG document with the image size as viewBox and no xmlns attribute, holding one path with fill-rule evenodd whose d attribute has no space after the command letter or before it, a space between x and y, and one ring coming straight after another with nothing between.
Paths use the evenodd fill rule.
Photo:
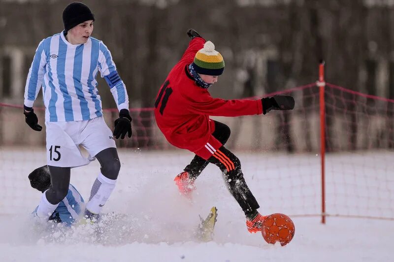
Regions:
<instances>
[{"instance_id":1,"label":"outstretched red sleeve pointing right toward the black glove","mask_svg":"<svg viewBox=\"0 0 394 262\"><path fill-rule=\"evenodd\" d=\"M199 95L188 98L189 111L195 114L210 116L247 116L263 113L261 100L226 100L212 98L208 91L202 90Z\"/></svg>"}]
</instances>

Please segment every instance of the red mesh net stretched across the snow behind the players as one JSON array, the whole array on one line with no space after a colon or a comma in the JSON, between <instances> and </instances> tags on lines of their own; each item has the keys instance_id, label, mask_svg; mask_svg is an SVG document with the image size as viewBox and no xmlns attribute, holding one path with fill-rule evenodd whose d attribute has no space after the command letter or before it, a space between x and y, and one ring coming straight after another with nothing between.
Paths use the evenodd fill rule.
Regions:
<instances>
[{"instance_id":1,"label":"red mesh net stretched across the snow behind the players","mask_svg":"<svg viewBox=\"0 0 394 262\"><path fill-rule=\"evenodd\" d=\"M322 116L316 84L279 93L294 96L294 110L212 117L230 127L226 147L240 159L261 212L321 216L325 204L327 216L394 220L394 101L327 84L326 114ZM24 123L20 106L0 104L1 214L26 213L39 202L40 193L28 180L34 168L46 164L44 111L35 108L35 112L42 132ZM116 109L104 110L111 129L117 116ZM133 108L131 117L132 137L117 140L122 167L110 200L138 201L143 191L157 198L176 195L173 178L190 163L193 154L165 140L155 123L153 108ZM324 184L322 117L326 124ZM71 183L88 198L98 172L97 161L74 168ZM209 196L212 202L216 196L229 197L231 208L240 210L216 166L208 165L196 186L198 195Z\"/></svg>"}]
</instances>

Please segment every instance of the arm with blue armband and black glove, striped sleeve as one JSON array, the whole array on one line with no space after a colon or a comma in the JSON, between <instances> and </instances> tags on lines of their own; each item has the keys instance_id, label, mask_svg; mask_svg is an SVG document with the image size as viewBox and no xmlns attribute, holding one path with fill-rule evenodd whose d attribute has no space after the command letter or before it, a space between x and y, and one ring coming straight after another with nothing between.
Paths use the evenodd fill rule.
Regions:
<instances>
[{"instance_id":1,"label":"arm with blue armband and black glove, striped sleeve","mask_svg":"<svg viewBox=\"0 0 394 262\"><path fill-rule=\"evenodd\" d=\"M112 60L111 52L100 42L99 51L99 71L101 77L105 79L112 96L115 99L119 110L119 118L115 120L115 129L113 134L116 138L124 139L126 134L131 137L131 116L129 112L129 96L126 86L116 70L115 63Z\"/></svg>"}]
</instances>

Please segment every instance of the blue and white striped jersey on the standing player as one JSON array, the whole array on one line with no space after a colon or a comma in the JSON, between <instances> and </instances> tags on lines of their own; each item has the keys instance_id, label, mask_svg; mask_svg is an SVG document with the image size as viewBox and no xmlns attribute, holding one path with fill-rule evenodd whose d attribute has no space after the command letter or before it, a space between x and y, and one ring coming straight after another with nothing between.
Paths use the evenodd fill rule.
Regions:
<instances>
[{"instance_id":1,"label":"blue and white striped jersey on the standing player","mask_svg":"<svg viewBox=\"0 0 394 262\"><path fill-rule=\"evenodd\" d=\"M89 37L85 44L73 45L63 32L54 34L43 39L35 51L26 81L25 105L33 107L42 85L45 121L81 121L101 116L98 72L110 86L118 109L129 109L125 84L104 43Z\"/></svg>"}]
</instances>

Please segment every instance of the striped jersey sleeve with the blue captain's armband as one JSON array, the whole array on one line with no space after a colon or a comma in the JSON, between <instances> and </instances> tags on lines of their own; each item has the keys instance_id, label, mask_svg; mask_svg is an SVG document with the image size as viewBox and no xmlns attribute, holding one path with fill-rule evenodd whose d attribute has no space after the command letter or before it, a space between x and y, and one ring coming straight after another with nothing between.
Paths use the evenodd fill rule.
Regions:
<instances>
[{"instance_id":1,"label":"striped jersey sleeve with the blue captain's armband","mask_svg":"<svg viewBox=\"0 0 394 262\"><path fill-rule=\"evenodd\" d=\"M127 94L125 83L123 83L118 71L116 70L111 52L101 41L99 49L99 71L101 77L105 79L111 89L111 93L115 99L118 110L129 110L129 96Z\"/></svg>"}]
</instances>

